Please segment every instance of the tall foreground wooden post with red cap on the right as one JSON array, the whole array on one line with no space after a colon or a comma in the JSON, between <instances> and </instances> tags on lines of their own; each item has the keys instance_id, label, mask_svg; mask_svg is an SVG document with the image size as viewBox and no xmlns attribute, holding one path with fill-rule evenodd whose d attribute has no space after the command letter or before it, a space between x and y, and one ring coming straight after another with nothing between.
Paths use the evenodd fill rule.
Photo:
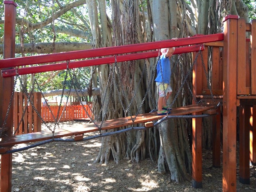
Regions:
<instances>
[{"instance_id":1,"label":"tall foreground wooden post with red cap on the right","mask_svg":"<svg viewBox=\"0 0 256 192\"><path fill-rule=\"evenodd\" d=\"M224 18L223 49L223 191L236 191L237 20Z\"/></svg>"}]
</instances>

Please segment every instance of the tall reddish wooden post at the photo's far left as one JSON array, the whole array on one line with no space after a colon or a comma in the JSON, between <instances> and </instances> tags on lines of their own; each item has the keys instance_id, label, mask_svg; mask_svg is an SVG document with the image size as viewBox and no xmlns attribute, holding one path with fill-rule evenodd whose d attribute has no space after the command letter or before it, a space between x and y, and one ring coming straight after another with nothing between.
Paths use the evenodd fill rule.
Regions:
<instances>
[{"instance_id":1,"label":"tall reddish wooden post at the photo's far left","mask_svg":"<svg viewBox=\"0 0 256 192\"><path fill-rule=\"evenodd\" d=\"M17 5L15 2L4 1L4 59L14 57L15 53L16 7ZM13 77L2 78L0 76L0 126L3 126L4 124L4 119L12 95L13 85ZM8 136L11 136L13 127L13 102L8 118L6 120L5 127L7 127L8 130L4 133ZM11 192L12 154L1 155L0 189L1 192Z\"/></svg>"}]
</instances>

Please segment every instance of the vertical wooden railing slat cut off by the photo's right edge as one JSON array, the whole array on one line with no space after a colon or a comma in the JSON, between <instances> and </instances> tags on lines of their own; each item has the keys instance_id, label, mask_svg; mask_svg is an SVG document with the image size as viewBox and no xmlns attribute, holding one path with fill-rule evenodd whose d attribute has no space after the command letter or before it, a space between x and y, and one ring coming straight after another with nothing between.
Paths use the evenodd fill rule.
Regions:
<instances>
[{"instance_id":1,"label":"vertical wooden railing slat cut off by the photo's right edge","mask_svg":"<svg viewBox=\"0 0 256 192\"><path fill-rule=\"evenodd\" d=\"M251 21L251 94L256 95L256 20Z\"/></svg>"}]
</instances>

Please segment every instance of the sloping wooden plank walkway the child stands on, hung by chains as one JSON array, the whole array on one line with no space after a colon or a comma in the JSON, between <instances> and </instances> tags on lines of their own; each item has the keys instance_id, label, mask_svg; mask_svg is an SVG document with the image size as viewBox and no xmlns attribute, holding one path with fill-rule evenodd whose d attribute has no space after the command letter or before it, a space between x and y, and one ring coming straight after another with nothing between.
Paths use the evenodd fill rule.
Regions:
<instances>
[{"instance_id":1,"label":"sloping wooden plank walkway the child stands on, hung by chains","mask_svg":"<svg viewBox=\"0 0 256 192\"><path fill-rule=\"evenodd\" d=\"M180 108L173 108L169 116L187 115L195 112L203 112L203 111L211 110L214 108L215 106L213 105L204 105L204 104L188 105ZM163 117L164 115L163 116L157 115L157 112L140 114L136 117L134 124L146 123L153 120L159 120ZM98 125L100 125L100 123L98 123ZM118 119L111 119L111 120L104 121L101 129L102 130L114 129L117 127L122 127L127 125L132 125L131 117L122 117ZM56 129L54 132L54 138L79 135L87 132L96 132L98 130L99 129L95 126L95 124L88 123L86 125L81 125L81 127ZM52 139L51 131L41 131L41 132L28 133L23 135L16 135L12 137L5 137L5 138L2 138L2 140L0 141L0 152L4 153L6 150L6 146L12 147L13 145L16 145L16 144L42 141L42 140L48 140L48 139Z\"/></svg>"}]
</instances>

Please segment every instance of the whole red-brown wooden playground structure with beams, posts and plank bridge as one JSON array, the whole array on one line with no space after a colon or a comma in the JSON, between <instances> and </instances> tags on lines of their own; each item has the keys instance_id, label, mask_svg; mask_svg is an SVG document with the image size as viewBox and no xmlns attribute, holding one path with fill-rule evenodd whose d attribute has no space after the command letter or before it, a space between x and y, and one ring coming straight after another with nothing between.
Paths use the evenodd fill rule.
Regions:
<instances>
[{"instance_id":1,"label":"whole red-brown wooden playground structure with beams, posts and plank bridge","mask_svg":"<svg viewBox=\"0 0 256 192\"><path fill-rule=\"evenodd\" d=\"M204 44L202 51L202 60L197 60L193 69L193 93L197 100L204 100L207 104L198 105L193 103L190 106L174 108L171 116L193 114L192 131L192 185L195 188L202 187L202 117L196 118L196 115L202 113L215 114L213 117L213 166L220 167L220 109L215 109L214 100L220 100L223 103L223 191L236 191L236 109L239 107L239 128L240 128L240 147L239 147L239 181L249 184L249 162L250 162L250 117L251 107L253 107L253 117L255 117L256 105L256 20L251 23L245 23L243 18L235 15L229 15L223 20L223 34L202 35L189 38L181 38L178 41L165 40L159 42L150 42L134 45L124 45L118 47L107 47L93 50L84 50L67 53L54 53L41 56L30 56L23 58L14 58L15 53L15 15L16 4L13 1L5 1L4 17L4 60L0 60L2 68L2 77L0 78L0 125L2 126L10 98L12 97L13 75L36 73L47 70L66 69L67 64L53 64L51 68L30 67L14 69L21 65L32 65L38 63L47 63L60 60L81 59L79 57L97 57L105 55L124 54L129 52L140 52L156 50L161 47L175 46L176 54L183 52L199 51L201 44ZM246 39L246 32L250 32L250 39ZM179 47L194 45L190 47ZM208 65L208 46L212 47L212 82L211 89L208 87L208 80L204 75L204 66ZM83 54L80 54L83 53ZM70 68L114 63L125 60L145 59L156 57L157 51L145 52L139 54L120 55L85 61L74 61L69 63ZM10 58L10 59L8 59ZM201 63L200 63L201 62ZM93 63L93 64L92 64ZM4 93L4 94L3 94ZM28 133L12 136L13 127L13 106L2 127L2 132L7 135L0 141L0 152L8 152L13 145L18 143L28 143L52 138L52 132ZM213 112L212 112L213 111ZM161 119L163 116L157 116L155 113L138 115L135 121L126 118L113 119L103 122L102 129L111 129L118 126L133 125L145 123L145 127L153 126L153 120ZM254 118L256 119L256 118ZM256 163L256 127L255 122L252 125L252 155L251 161ZM86 127L78 130L60 130L54 134L54 138L60 138L68 135L75 135L77 140L83 139L83 133L98 131L95 124L88 124ZM1 155L1 180L0 191L11 191L12 187L12 153Z\"/></svg>"}]
</instances>

